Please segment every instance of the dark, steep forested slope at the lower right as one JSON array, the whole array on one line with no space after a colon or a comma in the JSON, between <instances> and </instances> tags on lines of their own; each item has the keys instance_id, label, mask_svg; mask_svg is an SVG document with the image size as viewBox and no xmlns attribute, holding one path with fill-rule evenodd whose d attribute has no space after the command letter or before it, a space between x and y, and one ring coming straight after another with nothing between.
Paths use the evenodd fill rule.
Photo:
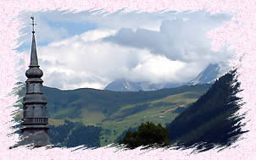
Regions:
<instances>
[{"instance_id":1,"label":"dark, steep forested slope at the lower right","mask_svg":"<svg viewBox=\"0 0 256 160\"><path fill-rule=\"evenodd\" d=\"M238 104L241 98L236 97L239 86L236 70L216 80L197 102L166 125L170 132L170 144L181 148L197 144L197 150L203 152L214 146L230 146L236 141L243 133L243 124L239 123L243 118L231 118L242 106Z\"/></svg>"}]
</instances>

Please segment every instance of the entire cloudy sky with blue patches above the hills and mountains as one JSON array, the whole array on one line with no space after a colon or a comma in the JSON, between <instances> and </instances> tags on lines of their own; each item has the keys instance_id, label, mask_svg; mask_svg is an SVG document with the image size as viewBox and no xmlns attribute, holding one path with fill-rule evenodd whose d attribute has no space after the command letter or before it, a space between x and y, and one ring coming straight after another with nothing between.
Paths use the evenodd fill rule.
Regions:
<instances>
[{"instance_id":1,"label":"entire cloudy sky with blue patches above the hills and mountains","mask_svg":"<svg viewBox=\"0 0 256 160\"><path fill-rule=\"evenodd\" d=\"M227 69L233 55L226 48L211 52L205 37L207 31L230 20L229 14L51 11L20 14L19 42L24 43L17 51L27 56L31 54L31 15L37 24L36 47L44 85L59 89L103 89L118 79L185 82L209 63ZM20 70L19 81L25 81L26 69Z\"/></svg>"}]
</instances>

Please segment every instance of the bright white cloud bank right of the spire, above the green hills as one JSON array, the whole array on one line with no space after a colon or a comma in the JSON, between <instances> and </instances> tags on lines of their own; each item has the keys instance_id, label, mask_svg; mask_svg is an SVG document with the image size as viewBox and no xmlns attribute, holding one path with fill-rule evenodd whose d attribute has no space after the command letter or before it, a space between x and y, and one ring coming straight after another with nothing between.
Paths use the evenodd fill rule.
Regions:
<instances>
[{"instance_id":1,"label":"bright white cloud bank right of the spire, above the green hills","mask_svg":"<svg viewBox=\"0 0 256 160\"><path fill-rule=\"evenodd\" d=\"M110 81L120 78L153 83L186 80L184 76L177 74L189 67L181 61L154 55L147 49L121 47L104 42L101 41L103 36L92 38L95 41L84 41L86 35L92 37L93 34L101 33L108 36L113 33L105 32L103 34L103 30L93 30L92 33L50 43L47 47L37 47L39 63L44 72L44 85L60 89L103 89ZM79 44L80 47L74 44Z\"/></svg>"}]
</instances>

